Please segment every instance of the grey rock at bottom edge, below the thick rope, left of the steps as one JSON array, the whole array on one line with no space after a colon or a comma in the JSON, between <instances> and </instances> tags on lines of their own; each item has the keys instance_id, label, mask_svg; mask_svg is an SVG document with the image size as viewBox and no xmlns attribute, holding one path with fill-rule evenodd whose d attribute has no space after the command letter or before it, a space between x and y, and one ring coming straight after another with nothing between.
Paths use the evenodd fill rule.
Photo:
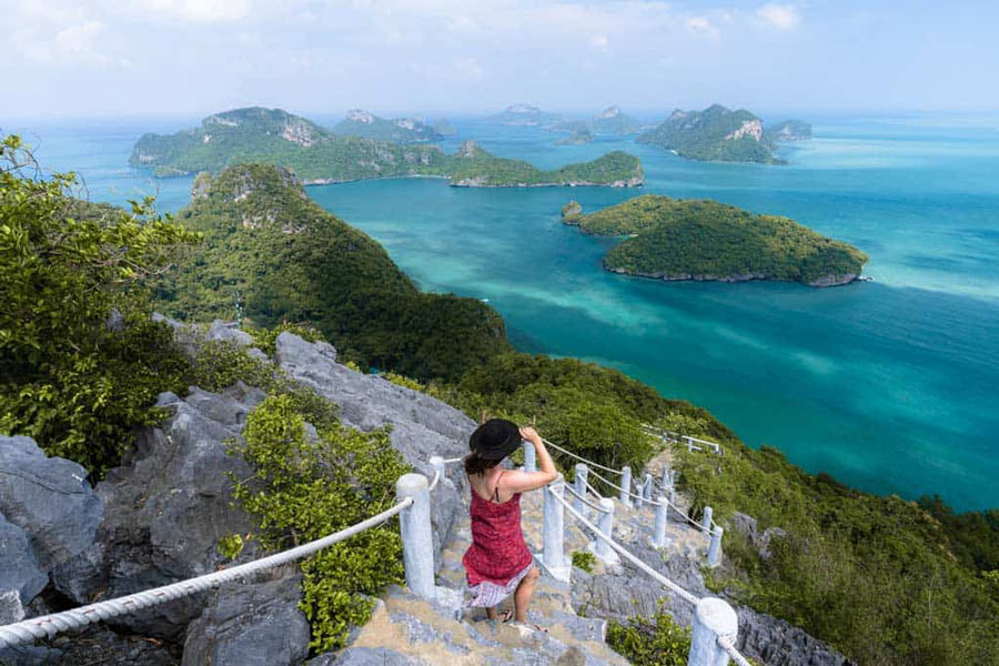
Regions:
<instances>
[{"instance_id":1,"label":"grey rock at bottom edge, below the thick rope, left of the steps","mask_svg":"<svg viewBox=\"0 0 999 666\"><path fill-rule=\"evenodd\" d=\"M293 565L270 579L220 589L188 627L183 666L301 664L309 655L301 582Z\"/></svg>"}]
</instances>

